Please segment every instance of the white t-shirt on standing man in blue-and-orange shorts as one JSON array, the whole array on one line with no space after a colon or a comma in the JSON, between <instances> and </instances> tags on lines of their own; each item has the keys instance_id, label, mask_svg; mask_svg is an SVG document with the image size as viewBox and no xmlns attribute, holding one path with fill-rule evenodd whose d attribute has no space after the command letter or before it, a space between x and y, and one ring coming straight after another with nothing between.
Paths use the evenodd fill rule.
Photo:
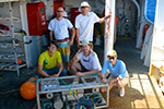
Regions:
<instances>
[{"instance_id":1,"label":"white t-shirt on standing man in blue-and-orange shorts","mask_svg":"<svg viewBox=\"0 0 164 109\"><path fill-rule=\"evenodd\" d=\"M54 19L50 21L48 25L48 29L54 32L55 38L57 40L62 40L65 38L68 38L69 37L68 28L72 28L72 27L73 25L71 24L71 22L63 17L61 21Z\"/></svg>"}]
</instances>

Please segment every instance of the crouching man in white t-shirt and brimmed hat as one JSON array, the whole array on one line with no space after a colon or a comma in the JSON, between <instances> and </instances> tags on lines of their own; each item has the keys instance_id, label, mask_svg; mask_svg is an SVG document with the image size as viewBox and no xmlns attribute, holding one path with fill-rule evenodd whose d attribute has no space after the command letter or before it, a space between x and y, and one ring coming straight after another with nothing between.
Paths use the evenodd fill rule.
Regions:
<instances>
[{"instance_id":1,"label":"crouching man in white t-shirt and brimmed hat","mask_svg":"<svg viewBox=\"0 0 164 109\"><path fill-rule=\"evenodd\" d=\"M81 50L71 60L72 74L84 76L99 73L102 66L97 55L92 50L93 45L84 39L79 47Z\"/></svg>"}]
</instances>

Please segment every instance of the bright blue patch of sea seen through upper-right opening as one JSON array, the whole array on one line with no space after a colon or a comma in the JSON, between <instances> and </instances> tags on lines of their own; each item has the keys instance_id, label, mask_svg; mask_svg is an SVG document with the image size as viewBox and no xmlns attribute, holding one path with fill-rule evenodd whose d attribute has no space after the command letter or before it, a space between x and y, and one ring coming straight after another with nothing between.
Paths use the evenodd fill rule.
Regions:
<instances>
[{"instance_id":1,"label":"bright blue patch of sea seen through upper-right opening","mask_svg":"<svg viewBox=\"0 0 164 109\"><path fill-rule=\"evenodd\" d=\"M154 24L156 0L145 0L145 19Z\"/></svg>"}]
</instances>

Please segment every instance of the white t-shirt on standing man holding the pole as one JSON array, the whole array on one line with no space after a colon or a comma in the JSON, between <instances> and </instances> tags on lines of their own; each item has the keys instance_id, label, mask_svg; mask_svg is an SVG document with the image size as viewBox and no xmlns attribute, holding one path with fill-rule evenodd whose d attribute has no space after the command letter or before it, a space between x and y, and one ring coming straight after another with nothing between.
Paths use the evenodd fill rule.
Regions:
<instances>
[{"instance_id":1,"label":"white t-shirt on standing man holding the pole","mask_svg":"<svg viewBox=\"0 0 164 109\"><path fill-rule=\"evenodd\" d=\"M75 28L79 28L80 41L83 39L93 41L93 27L95 22L99 22L99 17L93 12L89 12L86 16L79 14L75 17Z\"/></svg>"}]
</instances>

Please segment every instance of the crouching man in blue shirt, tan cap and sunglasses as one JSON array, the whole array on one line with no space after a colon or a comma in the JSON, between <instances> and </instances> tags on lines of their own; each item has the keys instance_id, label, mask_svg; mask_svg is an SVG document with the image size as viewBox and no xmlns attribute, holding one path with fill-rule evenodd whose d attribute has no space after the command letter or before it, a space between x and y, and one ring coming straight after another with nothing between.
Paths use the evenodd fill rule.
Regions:
<instances>
[{"instance_id":1,"label":"crouching man in blue shirt, tan cap and sunglasses","mask_svg":"<svg viewBox=\"0 0 164 109\"><path fill-rule=\"evenodd\" d=\"M125 85L129 82L129 74L126 69L126 64L117 59L117 52L109 50L107 52L108 60L105 62L103 70L101 71L102 83L108 83L109 89L116 84L120 88L119 96L125 95ZM110 72L109 77L106 80L105 73L107 69ZM101 88L102 93L106 92L106 87Z\"/></svg>"}]
</instances>

